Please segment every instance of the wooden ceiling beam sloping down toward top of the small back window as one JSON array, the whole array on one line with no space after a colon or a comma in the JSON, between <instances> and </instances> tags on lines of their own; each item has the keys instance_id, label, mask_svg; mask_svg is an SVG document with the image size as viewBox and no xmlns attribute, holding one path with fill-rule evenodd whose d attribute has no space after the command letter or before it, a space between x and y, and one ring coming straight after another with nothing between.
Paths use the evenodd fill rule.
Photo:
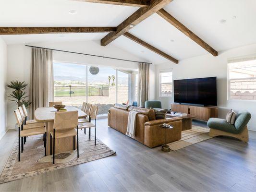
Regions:
<instances>
[{"instance_id":1,"label":"wooden ceiling beam sloping down toward top of the small back window","mask_svg":"<svg viewBox=\"0 0 256 192\"><path fill-rule=\"evenodd\" d=\"M176 64L179 63L178 60L174 59L174 58L171 57L170 55L168 55L168 54L164 53L163 51L161 51L161 50L159 50L159 49L157 49L157 48L155 48L155 47L149 45L149 44L146 43L145 41L139 39L138 37L136 37L136 36L134 36L134 35L132 35L132 34L130 34L130 33L128 33L128 32L124 33L123 36L126 36L127 38L129 38L129 39L135 41L136 43L138 43L138 44L140 44L140 45L142 45L142 46L148 48L149 50L151 50L151 51L157 53L158 55L160 55L160 56L162 56L162 57L164 57L164 58L166 58L166 59L168 59L168 60L171 60L172 62L174 62L174 63L176 63Z\"/></svg>"}]
</instances>

